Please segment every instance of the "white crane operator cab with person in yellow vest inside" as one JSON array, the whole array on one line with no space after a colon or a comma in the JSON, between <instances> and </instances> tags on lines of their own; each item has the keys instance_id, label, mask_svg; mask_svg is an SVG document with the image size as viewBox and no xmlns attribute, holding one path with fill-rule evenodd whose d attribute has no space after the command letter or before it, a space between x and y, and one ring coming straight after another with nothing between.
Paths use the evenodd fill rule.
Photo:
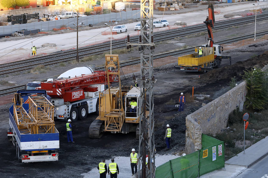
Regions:
<instances>
[{"instance_id":1,"label":"white crane operator cab with person in yellow vest inside","mask_svg":"<svg viewBox=\"0 0 268 178\"><path fill-rule=\"evenodd\" d=\"M139 87L133 87L125 94L124 102L126 122L139 121L138 118L140 115L140 95L141 91Z\"/></svg>"}]
</instances>

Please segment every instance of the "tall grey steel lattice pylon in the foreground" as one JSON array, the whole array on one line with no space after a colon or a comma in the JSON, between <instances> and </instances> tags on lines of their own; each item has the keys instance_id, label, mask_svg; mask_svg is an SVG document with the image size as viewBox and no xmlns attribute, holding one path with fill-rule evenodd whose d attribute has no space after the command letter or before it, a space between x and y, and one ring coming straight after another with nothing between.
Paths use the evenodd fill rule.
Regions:
<instances>
[{"instance_id":1,"label":"tall grey steel lattice pylon in the foreground","mask_svg":"<svg viewBox=\"0 0 268 178\"><path fill-rule=\"evenodd\" d=\"M142 160L142 174L138 169L138 177L155 177L155 138L154 138L154 99L153 86L156 82L153 75L153 53L155 49L153 38L153 0L141 0L141 35L138 43L130 43L127 36L127 49L138 45L141 53L141 78L137 79L141 86L140 109L142 121L139 123L139 155ZM133 80L135 76L133 76ZM146 110L149 115L146 115ZM142 154L141 154L142 150ZM146 155L148 165L146 166ZM139 161L138 168L141 163Z\"/></svg>"}]
</instances>

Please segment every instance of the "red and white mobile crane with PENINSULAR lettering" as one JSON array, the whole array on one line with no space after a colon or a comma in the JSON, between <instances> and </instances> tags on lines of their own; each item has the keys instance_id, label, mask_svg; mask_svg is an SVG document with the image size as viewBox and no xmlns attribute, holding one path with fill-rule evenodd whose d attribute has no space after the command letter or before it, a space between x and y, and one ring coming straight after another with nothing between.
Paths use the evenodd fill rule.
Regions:
<instances>
[{"instance_id":1,"label":"red and white mobile crane with PENINSULAR lettering","mask_svg":"<svg viewBox=\"0 0 268 178\"><path fill-rule=\"evenodd\" d=\"M109 81L115 80L115 75L109 76ZM46 90L54 104L54 117L72 121L82 120L89 113L99 112L99 93L105 90L107 84L106 71L94 71L70 78L59 78L49 82L41 82L37 89Z\"/></svg>"}]
</instances>

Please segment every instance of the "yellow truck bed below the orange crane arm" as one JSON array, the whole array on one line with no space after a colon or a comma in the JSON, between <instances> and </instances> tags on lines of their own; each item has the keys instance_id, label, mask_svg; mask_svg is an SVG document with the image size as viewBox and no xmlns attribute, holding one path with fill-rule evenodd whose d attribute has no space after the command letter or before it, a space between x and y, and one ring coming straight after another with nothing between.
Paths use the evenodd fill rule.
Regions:
<instances>
[{"instance_id":1,"label":"yellow truck bed below the orange crane arm","mask_svg":"<svg viewBox=\"0 0 268 178\"><path fill-rule=\"evenodd\" d=\"M214 61L214 54L194 58L193 54L178 57L179 66L200 66Z\"/></svg>"}]
</instances>

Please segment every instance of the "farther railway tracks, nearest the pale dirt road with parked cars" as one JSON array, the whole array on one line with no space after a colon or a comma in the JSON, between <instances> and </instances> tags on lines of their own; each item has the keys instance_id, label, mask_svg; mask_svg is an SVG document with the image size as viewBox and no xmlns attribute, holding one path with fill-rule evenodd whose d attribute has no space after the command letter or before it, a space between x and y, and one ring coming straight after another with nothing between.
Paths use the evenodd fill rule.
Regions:
<instances>
[{"instance_id":1,"label":"farther railway tracks, nearest the pale dirt road with parked cars","mask_svg":"<svg viewBox=\"0 0 268 178\"><path fill-rule=\"evenodd\" d=\"M257 21L267 20L267 19L268 19L268 14L261 14L257 16ZM241 25L245 23L252 23L252 22L255 22L255 16L219 21L214 24L213 30L228 28L231 26ZM154 39L155 39L155 42L158 42L162 40L183 37L183 36L187 36L191 34L197 34L197 33L204 32L204 31L207 31L207 28L204 24L195 25L195 26L190 26L190 27L177 28L177 29L169 30L165 32L154 33ZM130 40L131 42L137 42L138 37L135 36L131 38ZM112 42L112 45L113 45L112 49L122 48L126 46L126 41L125 40L114 41ZM79 49L79 58L102 54L109 50L110 50L110 43L99 44L99 45L90 46L90 47L83 47ZM0 65L0 75L29 70L38 65L48 66L48 65L61 63L61 62L71 61L75 58L76 58L76 50L68 50L68 51L61 52L61 53L54 53L50 55L29 58L29 59L22 60L22 61L5 63L5 64Z\"/></svg>"}]
</instances>

